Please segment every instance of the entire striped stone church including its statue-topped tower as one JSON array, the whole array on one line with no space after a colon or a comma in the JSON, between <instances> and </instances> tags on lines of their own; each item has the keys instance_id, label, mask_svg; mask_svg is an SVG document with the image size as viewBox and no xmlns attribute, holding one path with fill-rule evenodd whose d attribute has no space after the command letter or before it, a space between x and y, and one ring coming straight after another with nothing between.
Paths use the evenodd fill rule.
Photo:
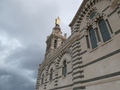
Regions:
<instances>
[{"instance_id":1,"label":"entire striped stone church including its statue-topped tower","mask_svg":"<svg viewBox=\"0 0 120 90\"><path fill-rule=\"evenodd\" d=\"M83 0L69 26L56 19L36 90L120 90L120 0Z\"/></svg>"}]
</instances>

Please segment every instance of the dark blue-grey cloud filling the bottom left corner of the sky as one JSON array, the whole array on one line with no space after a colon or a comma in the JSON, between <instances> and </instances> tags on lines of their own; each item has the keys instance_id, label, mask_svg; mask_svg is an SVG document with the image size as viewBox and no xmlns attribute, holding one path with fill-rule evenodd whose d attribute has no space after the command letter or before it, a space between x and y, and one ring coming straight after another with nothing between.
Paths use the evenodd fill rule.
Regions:
<instances>
[{"instance_id":1,"label":"dark blue-grey cloud filling the bottom left corner of the sky","mask_svg":"<svg viewBox=\"0 0 120 90\"><path fill-rule=\"evenodd\" d=\"M19 73L19 72L18 72ZM0 90L34 90L35 84L18 75L0 76Z\"/></svg>"}]
</instances>

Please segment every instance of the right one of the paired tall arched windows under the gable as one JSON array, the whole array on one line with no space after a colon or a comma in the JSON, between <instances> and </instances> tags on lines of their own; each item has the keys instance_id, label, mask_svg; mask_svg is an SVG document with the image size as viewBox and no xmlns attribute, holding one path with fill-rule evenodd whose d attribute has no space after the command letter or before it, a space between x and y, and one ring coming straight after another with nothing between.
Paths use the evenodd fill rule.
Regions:
<instances>
[{"instance_id":1,"label":"right one of the paired tall arched windows under the gable","mask_svg":"<svg viewBox=\"0 0 120 90\"><path fill-rule=\"evenodd\" d=\"M103 38L103 42L106 42L107 40L111 39L110 33L108 31L105 21L101 19L98 24L99 24L100 32Z\"/></svg>"}]
</instances>

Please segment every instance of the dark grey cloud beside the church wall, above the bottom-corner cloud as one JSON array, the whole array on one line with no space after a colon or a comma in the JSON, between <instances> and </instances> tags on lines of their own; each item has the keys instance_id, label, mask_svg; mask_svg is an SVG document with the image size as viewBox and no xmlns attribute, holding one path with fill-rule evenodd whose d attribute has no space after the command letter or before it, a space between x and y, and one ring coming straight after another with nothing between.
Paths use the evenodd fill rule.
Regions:
<instances>
[{"instance_id":1,"label":"dark grey cloud beside the church wall, above the bottom-corner cloud","mask_svg":"<svg viewBox=\"0 0 120 90\"><path fill-rule=\"evenodd\" d=\"M34 78L36 78L38 66L43 61L43 53L44 50L36 44L19 47L10 53L5 62L14 62L19 68L33 71Z\"/></svg>"}]
</instances>

